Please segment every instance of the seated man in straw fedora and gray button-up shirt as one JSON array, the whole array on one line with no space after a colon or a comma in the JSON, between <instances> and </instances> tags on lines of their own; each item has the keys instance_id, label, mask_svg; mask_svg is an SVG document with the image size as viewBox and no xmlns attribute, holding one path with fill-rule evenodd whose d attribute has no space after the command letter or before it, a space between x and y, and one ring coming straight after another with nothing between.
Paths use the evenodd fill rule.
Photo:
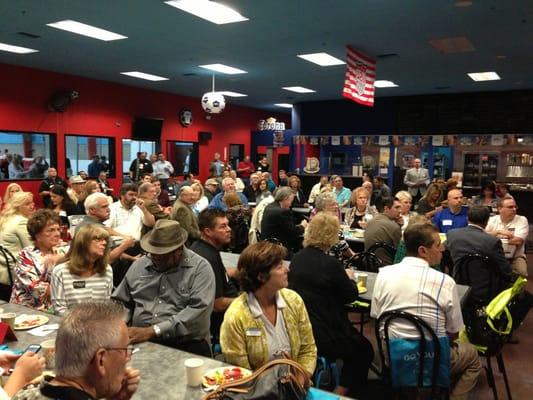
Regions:
<instances>
[{"instance_id":1,"label":"seated man in straw fedora and gray button-up shirt","mask_svg":"<svg viewBox=\"0 0 533 400\"><path fill-rule=\"evenodd\" d=\"M177 221L158 220L141 239L149 255L131 265L112 297L130 310L132 343L152 340L210 357L215 276L204 258L184 246L186 241Z\"/></svg>"}]
</instances>

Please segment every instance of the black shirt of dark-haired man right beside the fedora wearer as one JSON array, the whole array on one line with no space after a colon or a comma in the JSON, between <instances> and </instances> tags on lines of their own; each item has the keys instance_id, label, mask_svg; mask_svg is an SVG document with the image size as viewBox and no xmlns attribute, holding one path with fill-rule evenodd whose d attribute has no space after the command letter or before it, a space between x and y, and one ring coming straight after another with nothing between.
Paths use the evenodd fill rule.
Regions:
<instances>
[{"instance_id":1,"label":"black shirt of dark-haired man right beside the fedora wearer","mask_svg":"<svg viewBox=\"0 0 533 400\"><path fill-rule=\"evenodd\" d=\"M213 272L215 273L215 299L220 297L237 297L239 295L239 291L226 272L219 250L202 239L195 241L189 249L205 258L209 265L211 265L211 268L213 268ZM213 311L211 314L211 333L215 337L219 336L223 319L223 312Z\"/></svg>"}]
</instances>

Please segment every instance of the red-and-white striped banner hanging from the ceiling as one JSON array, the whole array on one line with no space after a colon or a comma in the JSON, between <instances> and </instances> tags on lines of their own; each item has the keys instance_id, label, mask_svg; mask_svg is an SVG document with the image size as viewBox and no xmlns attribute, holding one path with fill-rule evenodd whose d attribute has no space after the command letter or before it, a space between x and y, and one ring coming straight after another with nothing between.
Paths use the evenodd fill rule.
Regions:
<instances>
[{"instance_id":1,"label":"red-and-white striped banner hanging from the ceiling","mask_svg":"<svg viewBox=\"0 0 533 400\"><path fill-rule=\"evenodd\" d=\"M376 60L346 46L346 79L342 95L365 106L374 106Z\"/></svg>"}]
</instances>

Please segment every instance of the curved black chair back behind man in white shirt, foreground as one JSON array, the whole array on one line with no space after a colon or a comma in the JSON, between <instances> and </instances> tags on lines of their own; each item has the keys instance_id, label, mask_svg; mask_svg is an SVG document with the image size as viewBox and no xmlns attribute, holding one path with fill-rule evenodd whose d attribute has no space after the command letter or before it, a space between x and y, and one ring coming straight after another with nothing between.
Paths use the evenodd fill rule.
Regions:
<instances>
[{"instance_id":1,"label":"curved black chair back behind man in white shirt, foreground","mask_svg":"<svg viewBox=\"0 0 533 400\"><path fill-rule=\"evenodd\" d=\"M405 311L388 311L378 318L375 324L375 334L376 334L376 341L377 341L377 347L379 351L379 355L381 358L381 365L383 366L384 373L383 376L387 377L391 383L394 382L393 380L393 373L392 371L393 365L392 365L392 357L391 357L391 346L390 346L390 337L389 337L389 329L390 324L395 320L403 320L407 321L410 324L412 324L417 332L418 336L420 337L420 340L416 341L409 341L411 343L415 343L415 346L418 347L418 349L414 351L414 354L423 355L420 357L423 361L418 362L416 365L418 368L413 368L410 370L410 373L415 374L415 382L417 388L431 388L431 398L435 399L438 398L438 393L440 391L439 389L439 375L441 374L440 368L441 368L441 356L442 349L441 349L441 342L439 341L439 338L435 334L435 331L420 317L417 317L416 315L410 314ZM380 330L383 326L383 335L381 335ZM427 336L429 336L429 339L427 339ZM445 343L449 347L449 342L447 341L447 338L444 338ZM387 359L385 358L385 352L383 349L383 346L386 346L387 348ZM427 372L424 370L424 367L428 365L427 359L425 358L425 355L428 352L433 352L433 360L431 362L431 373L429 376L431 377L430 385L428 386L427 383L425 384L424 380L427 382ZM448 352L449 355L449 352ZM389 365L389 367L387 367ZM426 373L425 373L426 372ZM442 371L449 374L450 370L448 367L447 371ZM424 376L426 376L426 379L424 379ZM449 383L449 382L448 382Z\"/></svg>"}]
</instances>

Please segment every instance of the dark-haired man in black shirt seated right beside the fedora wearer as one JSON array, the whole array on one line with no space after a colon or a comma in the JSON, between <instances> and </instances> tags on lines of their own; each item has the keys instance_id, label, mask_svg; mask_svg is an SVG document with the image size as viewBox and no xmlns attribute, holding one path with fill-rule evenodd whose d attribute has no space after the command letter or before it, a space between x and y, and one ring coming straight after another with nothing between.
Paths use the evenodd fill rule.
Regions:
<instances>
[{"instance_id":1,"label":"dark-haired man in black shirt seated right beside the fedora wearer","mask_svg":"<svg viewBox=\"0 0 533 400\"><path fill-rule=\"evenodd\" d=\"M192 244L191 250L205 258L215 273L215 303L211 314L211 334L214 338L218 338L224 313L239 294L237 287L229 279L220 257L220 250L231 241L231 228L226 213L216 208L203 210L198 215L198 225L202 236Z\"/></svg>"}]
</instances>

